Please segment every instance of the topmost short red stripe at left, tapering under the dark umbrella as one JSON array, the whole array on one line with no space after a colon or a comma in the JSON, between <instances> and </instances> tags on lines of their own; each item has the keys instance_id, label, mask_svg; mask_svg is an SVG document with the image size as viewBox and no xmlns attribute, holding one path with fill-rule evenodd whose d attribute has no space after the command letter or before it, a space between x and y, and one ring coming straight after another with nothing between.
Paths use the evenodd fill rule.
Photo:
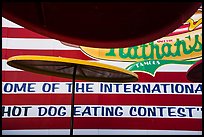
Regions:
<instances>
[{"instance_id":1,"label":"topmost short red stripe at left, tapering under the dark umbrella","mask_svg":"<svg viewBox=\"0 0 204 137\"><path fill-rule=\"evenodd\" d=\"M7 28L2 27L2 38L38 38L50 39L41 34L35 33L25 28Z\"/></svg>"}]
</instances>

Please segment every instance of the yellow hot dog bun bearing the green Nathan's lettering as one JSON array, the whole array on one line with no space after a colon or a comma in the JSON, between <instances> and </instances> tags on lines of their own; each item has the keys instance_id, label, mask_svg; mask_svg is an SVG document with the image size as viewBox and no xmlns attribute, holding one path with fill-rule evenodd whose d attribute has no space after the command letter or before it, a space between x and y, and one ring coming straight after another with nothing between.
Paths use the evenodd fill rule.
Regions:
<instances>
[{"instance_id":1,"label":"yellow hot dog bun bearing the green Nathan's lettering","mask_svg":"<svg viewBox=\"0 0 204 137\"><path fill-rule=\"evenodd\" d=\"M165 41L161 43L159 41ZM202 56L202 28L191 32L163 37L157 41L128 48L80 47L86 54L105 60L186 60Z\"/></svg>"}]
</instances>

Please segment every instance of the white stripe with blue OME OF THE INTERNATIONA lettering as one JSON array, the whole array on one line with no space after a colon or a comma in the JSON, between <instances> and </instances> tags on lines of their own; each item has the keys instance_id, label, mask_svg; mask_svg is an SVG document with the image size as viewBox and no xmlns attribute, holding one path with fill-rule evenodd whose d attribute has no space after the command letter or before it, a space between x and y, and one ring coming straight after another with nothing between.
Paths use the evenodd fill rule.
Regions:
<instances>
[{"instance_id":1,"label":"white stripe with blue OME OF THE INTERNATIONA lettering","mask_svg":"<svg viewBox=\"0 0 204 137\"><path fill-rule=\"evenodd\" d=\"M71 82L2 82L2 94L71 94L71 85ZM75 85L76 94L202 95L201 83L76 82Z\"/></svg>"}]
</instances>

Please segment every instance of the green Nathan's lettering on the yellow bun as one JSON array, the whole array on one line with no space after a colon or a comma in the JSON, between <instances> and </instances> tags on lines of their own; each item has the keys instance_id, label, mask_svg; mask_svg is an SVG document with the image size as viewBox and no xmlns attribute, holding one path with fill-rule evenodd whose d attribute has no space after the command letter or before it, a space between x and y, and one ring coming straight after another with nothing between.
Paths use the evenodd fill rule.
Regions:
<instances>
[{"instance_id":1,"label":"green Nathan's lettering on the yellow bun","mask_svg":"<svg viewBox=\"0 0 204 137\"><path fill-rule=\"evenodd\" d=\"M172 45L170 43L164 43L161 47L158 44L153 42L149 42L149 45L142 44L141 46L134 46L129 48L119 48L119 57L122 59L130 58L130 59L162 59L165 57L175 57L181 56L181 50L183 50L184 54L190 54L192 52L199 52L202 50L202 41L199 41L200 35L195 35L195 42L193 45L188 45L189 48L186 46L186 41L180 40L179 38L176 39L174 46L176 46L176 51L172 52ZM202 37L202 33L201 33ZM191 36L185 37L189 41L191 41ZM150 54L147 55L147 47L150 46ZM138 55L139 48L141 49L141 55ZM125 51L126 50L126 51ZM114 56L116 57L115 49L110 48L109 52L105 54L106 56Z\"/></svg>"}]
</instances>

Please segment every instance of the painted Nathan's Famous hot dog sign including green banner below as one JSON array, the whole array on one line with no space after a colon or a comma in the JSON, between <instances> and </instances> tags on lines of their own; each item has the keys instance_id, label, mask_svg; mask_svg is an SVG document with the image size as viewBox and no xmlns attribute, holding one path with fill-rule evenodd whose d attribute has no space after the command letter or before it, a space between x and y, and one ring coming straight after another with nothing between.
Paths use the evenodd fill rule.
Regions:
<instances>
[{"instance_id":1,"label":"painted Nathan's Famous hot dog sign including green banner below","mask_svg":"<svg viewBox=\"0 0 204 137\"><path fill-rule=\"evenodd\" d=\"M156 41L128 48L80 48L93 58L134 62L126 69L146 71L151 75L164 64L194 64L196 59L202 58L202 9L177 30Z\"/></svg>"}]
</instances>

